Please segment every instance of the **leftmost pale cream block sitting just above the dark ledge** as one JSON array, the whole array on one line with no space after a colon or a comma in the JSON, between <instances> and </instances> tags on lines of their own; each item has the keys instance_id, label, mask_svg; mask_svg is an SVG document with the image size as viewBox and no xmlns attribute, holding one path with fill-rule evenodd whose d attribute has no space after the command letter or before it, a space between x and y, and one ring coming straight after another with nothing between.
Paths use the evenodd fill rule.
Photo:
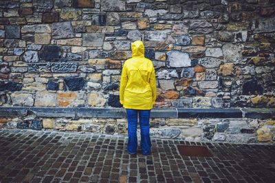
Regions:
<instances>
[{"instance_id":1,"label":"leftmost pale cream block sitting just above the dark ledge","mask_svg":"<svg viewBox=\"0 0 275 183\"><path fill-rule=\"evenodd\" d=\"M33 106L34 98L32 94L21 94L13 93L11 94L12 105L14 106Z\"/></svg>"}]
</instances>

